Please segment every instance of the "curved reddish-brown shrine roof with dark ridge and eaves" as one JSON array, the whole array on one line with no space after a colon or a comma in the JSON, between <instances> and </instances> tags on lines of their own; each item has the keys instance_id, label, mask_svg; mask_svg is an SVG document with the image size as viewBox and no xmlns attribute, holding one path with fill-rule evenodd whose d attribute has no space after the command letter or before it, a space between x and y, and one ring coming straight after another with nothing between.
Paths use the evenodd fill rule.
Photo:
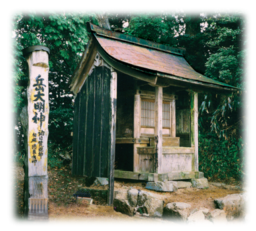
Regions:
<instances>
[{"instance_id":1,"label":"curved reddish-brown shrine roof with dark ridge and eaves","mask_svg":"<svg viewBox=\"0 0 256 231\"><path fill-rule=\"evenodd\" d=\"M114 69L155 86L181 86L195 91L232 94L237 90L196 72L183 58L184 50L148 42L87 23L91 36L71 78L71 90L79 92L94 57L99 52Z\"/></svg>"}]
</instances>

